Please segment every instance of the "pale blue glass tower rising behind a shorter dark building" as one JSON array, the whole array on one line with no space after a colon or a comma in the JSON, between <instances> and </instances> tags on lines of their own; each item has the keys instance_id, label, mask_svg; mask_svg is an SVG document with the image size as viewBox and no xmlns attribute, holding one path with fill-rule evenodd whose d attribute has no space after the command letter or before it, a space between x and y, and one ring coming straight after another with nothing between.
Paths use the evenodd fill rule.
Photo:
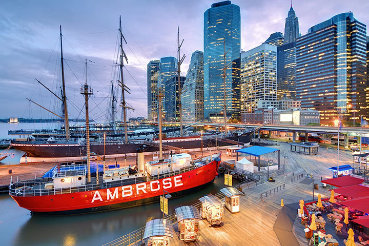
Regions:
<instances>
[{"instance_id":1,"label":"pale blue glass tower rising behind a shorter dark building","mask_svg":"<svg viewBox=\"0 0 369 246\"><path fill-rule=\"evenodd\" d=\"M178 69L178 60L173 56L169 57L162 57L160 58L160 65L159 65L159 76L158 76L158 83L157 88L161 88L161 91L164 95L162 98L162 104L165 103L165 82L172 78L173 76L177 75Z\"/></svg>"}]
</instances>

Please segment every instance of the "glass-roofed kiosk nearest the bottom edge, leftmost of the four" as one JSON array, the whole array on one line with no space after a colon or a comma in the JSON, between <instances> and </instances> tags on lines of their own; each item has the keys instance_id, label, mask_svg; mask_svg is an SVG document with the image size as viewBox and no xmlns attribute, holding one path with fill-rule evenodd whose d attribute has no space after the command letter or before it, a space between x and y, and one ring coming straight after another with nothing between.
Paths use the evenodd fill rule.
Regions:
<instances>
[{"instance_id":1,"label":"glass-roofed kiosk nearest the bottom edge, leftmost of the four","mask_svg":"<svg viewBox=\"0 0 369 246\"><path fill-rule=\"evenodd\" d=\"M146 223L144 237L148 246L169 246L173 228L166 219L153 219Z\"/></svg>"}]
</instances>

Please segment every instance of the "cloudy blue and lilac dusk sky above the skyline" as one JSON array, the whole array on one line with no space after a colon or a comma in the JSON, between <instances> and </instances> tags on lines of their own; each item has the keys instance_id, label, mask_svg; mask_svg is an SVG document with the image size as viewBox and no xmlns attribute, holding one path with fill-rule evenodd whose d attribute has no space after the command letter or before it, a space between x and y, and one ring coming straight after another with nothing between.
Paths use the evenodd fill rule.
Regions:
<instances>
[{"instance_id":1,"label":"cloudy blue and lilac dusk sky above the skyline","mask_svg":"<svg viewBox=\"0 0 369 246\"><path fill-rule=\"evenodd\" d=\"M0 1L0 118L55 118L30 103L29 98L61 114L59 100L35 80L60 94L59 25L63 31L66 94L70 118L84 118L84 98L79 89L87 82L94 95L90 117L109 117L111 81L116 83L116 48L119 15L127 40L124 79L129 117L147 117L147 69L150 60L177 56L177 27L185 39L181 66L186 75L191 54L203 51L203 12L212 1ZM234 0L241 10L241 49L263 43L271 33L284 33L289 0ZM301 35L342 12L369 24L367 0L293 1ZM119 98L118 98L119 101ZM119 109L121 110L121 109ZM120 113L118 112L118 118Z\"/></svg>"}]
</instances>

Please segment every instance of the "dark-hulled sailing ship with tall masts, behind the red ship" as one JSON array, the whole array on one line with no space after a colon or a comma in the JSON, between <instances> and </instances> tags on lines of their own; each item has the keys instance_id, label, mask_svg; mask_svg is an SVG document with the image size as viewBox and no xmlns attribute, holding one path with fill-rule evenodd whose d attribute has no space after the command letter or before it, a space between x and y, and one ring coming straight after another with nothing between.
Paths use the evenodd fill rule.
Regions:
<instances>
[{"instance_id":1,"label":"dark-hulled sailing ship with tall masts, behind the red ship","mask_svg":"<svg viewBox=\"0 0 369 246\"><path fill-rule=\"evenodd\" d=\"M120 20L119 20L120 21ZM17 150L24 151L26 154L20 159L20 162L28 162L28 163L37 163L37 162L67 162L67 161L79 161L86 159L87 152L87 142L85 138L73 138L71 137L69 130L69 118L68 118L68 108L67 108L67 96L65 91L65 79L64 79L64 58L63 58L63 43L62 43L62 34L60 27L60 51L61 51L61 77L62 77L62 90L61 90L61 98L58 97L55 93L53 93L58 99L60 99L63 103L63 113L64 113L64 125L65 125L65 139L57 139L50 138L48 140L31 140L31 141L11 141L11 146ZM127 154L136 153L137 148L140 146L144 146L144 152L157 153L159 151L158 142L159 139L154 136L149 138L147 136L142 137L141 139L129 139L128 138L128 127L127 127L127 115L126 110L131 109L127 106L125 100L125 93L129 93L129 88L124 83L123 77L123 68L124 68L124 60L128 62L128 58L126 53L124 52L123 44L125 42L125 38L121 31L121 24L119 25L119 78L118 78L118 86L121 88L121 107L124 118L124 137L123 138L112 138L107 141L107 144L104 146L101 140L95 140L90 142L90 152L94 156L103 156L106 158L114 158L114 157L124 157ZM183 40L182 40L183 43ZM183 61L183 58L180 57L180 47L182 44L179 42L179 28L178 28L178 78L180 78L180 65ZM225 57L225 54L224 54ZM38 80L37 80L38 81ZM38 81L41 85L43 85L40 81ZM180 81L178 81L180 85ZM44 85L43 85L44 86ZM46 88L46 86L44 86ZM178 95L180 96L180 88ZM111 99L111 115L112 115L112 125L115 130L115 101L116 98L114 96L114 89L112 85L111 89L112 99ZM224 92L226 93L226 92ZM224 97L225 98L225 97ZM31 100L30 100L31 101ZM180 101L180 98L179 98ZM32 101L33 102L33 101ZM34 103L34 102L33 102ZM38 105L40 106L40 105ZM41 106L42 107L42 106ZM224 107L226 105L224 104ZM44 107L43 107L44 108ZM45 109L45 108L44 108ZM226 108L224 108L224 112L226 112ZM49 111L49 110L48 110ZM51 112L51 111L49 111ZM181 104L179 104L179 112L181 112ZM51 112L53 113L53 112ZM58 116L57 114L53 113ZM60 116L59 116L60 117ZM224 124L227 132L227 117L224 117ZM240 145L243 146L250 142L251 135L254 131L245 132L239 135L227 135L223 136L221 134L218 135L204 135L201 137L200 135L194 136L183 136L182 131L182 117L179 114L180 119L180 134L175 137L168 137L162 139L163 149L169 151L183 151L183 150L196 150L202 147L216 149L218 147L224 146L234 146Z\"/></svg>"}]
</instances>

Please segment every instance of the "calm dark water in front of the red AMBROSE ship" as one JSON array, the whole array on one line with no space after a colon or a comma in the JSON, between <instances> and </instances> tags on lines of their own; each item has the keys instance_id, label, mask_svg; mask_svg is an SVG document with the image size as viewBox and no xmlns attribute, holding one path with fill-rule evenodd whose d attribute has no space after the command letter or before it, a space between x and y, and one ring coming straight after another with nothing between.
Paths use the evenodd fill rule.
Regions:
<instances>
[{"instance_id":1,"label":"calm dark water in front of the red AMBROSE ship","mask_svg":"<svg viewBox=\"0 0 369 246\"><path fill-rule=\"evenodd\" d=\"M223 187L223 180L223 176L220 176L213 184L196 193L170 199L169 213L173 213L174 208L181 204L197 202L204 194L219 192ZM7 195L5 200L9 199L11 200ZM73 216L30 216L24 209L18 208L14 201L6 203L6 211L10 215L3 221L2 226L10 224L10 221L15 223L13 225L15 227L6 227L2 233L5 237L9 237L9 242L12 242L10 245L101 245L145 226L147 220L162 217L159 203ZM16 222L13 220L14 216L20 216L22 219ZM19 230L14 231L14 228Z\"/></svg>"}]
</instances>

